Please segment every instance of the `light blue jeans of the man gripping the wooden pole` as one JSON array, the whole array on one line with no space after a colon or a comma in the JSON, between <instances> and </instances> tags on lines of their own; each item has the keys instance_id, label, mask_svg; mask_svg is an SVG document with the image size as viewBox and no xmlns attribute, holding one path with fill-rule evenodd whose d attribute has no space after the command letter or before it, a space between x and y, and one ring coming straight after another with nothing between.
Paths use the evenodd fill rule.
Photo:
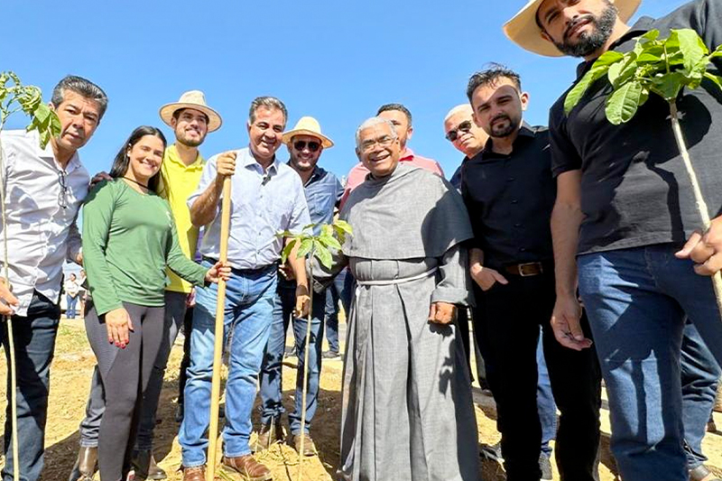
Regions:
<instances>
[{"instance_id":1,"label":"light blue jeans of the man gripping the wooden pole","mask_svg":"<svg viewBox=\"0 0 722 481\"><path fill-rule=\"evenodd\" d=\"M211 264L204 261L202 265L209 268ZM226 284L224 346L229 335L231 342L223 446L228 458L251 452L251 411L273 320L276 270L276 264L253 271L234 270ZM184 467L206 464L217 298L217 284L196 290L184 416L178 436Z\"/></svg>"}]
</instances>

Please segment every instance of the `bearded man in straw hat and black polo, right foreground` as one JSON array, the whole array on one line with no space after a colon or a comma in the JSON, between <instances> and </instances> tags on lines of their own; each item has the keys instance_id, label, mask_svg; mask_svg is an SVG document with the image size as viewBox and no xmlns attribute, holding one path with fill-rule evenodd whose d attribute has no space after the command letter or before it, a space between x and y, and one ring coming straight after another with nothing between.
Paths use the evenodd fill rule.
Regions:
<instances>
[{"instance_id":1,"label":"bearded man in straw hat and black polo, right foreground","mask_svg":"<svg viewBox=\"0 0 722 481\"><path fill-rule=\"evenodd\" d=\"M631 51L652 29L662 38L672 28L694 29L710 50L722 43L719 0L695 0L630 27L640 3L532 0L504 32L529 51L583 58L579 76L605 51ZM713 73L720 66L715 59ZM722 106L712 91L685 90L677 103L709 214L717 217ZM705 479L703 470L688 472L682 448L680 343L689 317L722 359L722 321L703 277L722 266L722 219L704 235L694 231L699 213L662 98L650 97L630 122L612 125L604 112L610 92L608 80L599 79L569 116L564 96L551 108L558 183L552 325L564 346L579 350L588 343L579 328L579 281L606 380L611 447L625 481Z\"/></svg>"}]
</instances>

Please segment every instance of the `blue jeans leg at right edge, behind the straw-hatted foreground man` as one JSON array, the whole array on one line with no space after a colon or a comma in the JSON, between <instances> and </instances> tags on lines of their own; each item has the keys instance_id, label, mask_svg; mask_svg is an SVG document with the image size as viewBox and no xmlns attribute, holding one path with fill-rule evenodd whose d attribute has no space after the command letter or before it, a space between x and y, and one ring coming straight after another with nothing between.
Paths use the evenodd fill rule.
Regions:
<instances>
[{"instance_id":1,"label":"blue jeans leg at right edge, behind the straw-hatted foreground man","mask_svg":"<svg viewBox=\"0 0 722 481\"><path fill-rule=\"evenodd\" d=\"M682 424L687 468L694 469L707 461L702 454L702 439L707 421L715 406L720 372L715 356L709 351L697 328L689 320L682 338Z\"/></svg>"}]
</instances>

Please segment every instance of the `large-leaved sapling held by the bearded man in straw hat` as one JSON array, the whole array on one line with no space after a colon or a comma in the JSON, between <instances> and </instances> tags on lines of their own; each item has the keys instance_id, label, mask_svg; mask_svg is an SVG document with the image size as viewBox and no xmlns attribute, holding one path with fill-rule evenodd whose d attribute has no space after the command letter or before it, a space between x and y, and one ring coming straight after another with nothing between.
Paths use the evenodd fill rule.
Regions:
<instances>
[{"instance_id":1,"label":"large-leaved sapling held by the bearded man in straw hat","mask_svg":"<svg viewBox=\"0 0 722 481\"><path fill-rule=\"evenodd\" d=\"M659 39L659 35L659 31L651 30L637 40L633 51L606 51L601 55L577 85L569 90L564 98L564 112L569 116L588 88L604 76L613 88L612 94L606 97L606 119L614 125L629 122L651 93L666 100L670 106L674 139L690 176L702 226L707 231L711 225L709 210L684 142L677 98L682 88L699 88L703 79L708 79L722 90L722 78L708 71L711 60L722 59L722 45L710 52L699 34L691 29L671 30L665 40ZM712 276L712 282L717 308L722 314L722 273Z\"/></svg>"}]
</instances>

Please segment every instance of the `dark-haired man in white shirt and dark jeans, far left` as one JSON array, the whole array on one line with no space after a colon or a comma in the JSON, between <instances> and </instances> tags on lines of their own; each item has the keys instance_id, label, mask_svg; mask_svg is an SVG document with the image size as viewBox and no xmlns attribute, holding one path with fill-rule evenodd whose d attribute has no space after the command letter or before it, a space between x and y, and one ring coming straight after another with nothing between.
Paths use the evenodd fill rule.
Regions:
<instances>
[{"instance_id":1,"label":"dark-haired man in white shirt and dark jeans, far left","mask_svg":"<svg viewBox=\"0 0 722 481\"><path fill-rule=\"evenodd\" d=\"M50 103L60 118L60 134L45 149L37 132L0 134L5 183L7 257L13 294L2 286L0 308L12 310L17 360L17 426L20 473L34 481L42 472L50 366L60 322L60 285L65 260L81 263L76 218L88 193L89 176L78 150L88 143L106 111L106 93L75 76L60 80ZM5 303L3 303L5 302ZM3 312L0 310L0 312ZM7 325L0 342L9 362ZM5 447L12 446L10 397ZM12 450L5 452L3 480L13 479Z\"/></svg>"}]
</instances>

